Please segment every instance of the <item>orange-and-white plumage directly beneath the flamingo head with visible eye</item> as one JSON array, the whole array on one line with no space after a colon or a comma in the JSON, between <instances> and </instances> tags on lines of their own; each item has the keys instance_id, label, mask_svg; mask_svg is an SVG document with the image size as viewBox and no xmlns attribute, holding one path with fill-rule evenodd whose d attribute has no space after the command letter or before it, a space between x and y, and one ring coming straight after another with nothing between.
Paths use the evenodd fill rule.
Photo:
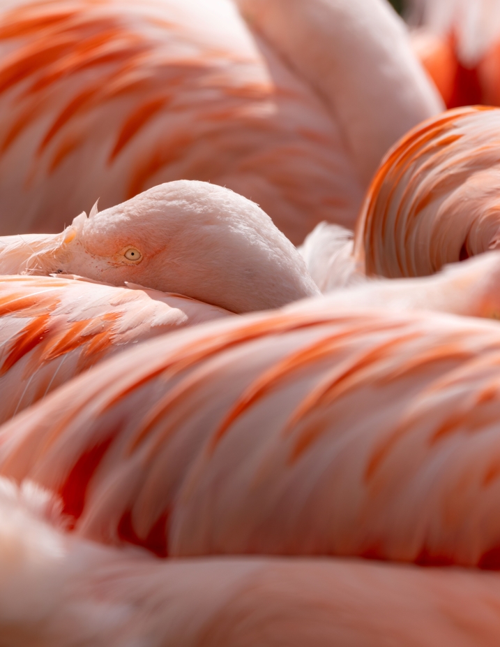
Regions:
<instances>
[{"instance_id":1,"label":"orange-and-white plumage directly beneath the flamingo head with visible eye","mask_svg":"<svg viewBox=\"0 0 500 647\"><path fill-rule=\"evenodd\" d=\"M229 314L153 290L1 277L0 421L130 344Z\"/></svg>"}]
</instances>

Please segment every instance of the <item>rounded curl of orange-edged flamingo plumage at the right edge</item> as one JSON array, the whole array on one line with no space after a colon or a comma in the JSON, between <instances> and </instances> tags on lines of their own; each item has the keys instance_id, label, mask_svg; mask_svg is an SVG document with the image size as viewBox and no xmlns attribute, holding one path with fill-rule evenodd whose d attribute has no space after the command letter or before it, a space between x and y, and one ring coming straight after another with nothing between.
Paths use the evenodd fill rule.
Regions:
<instances>
[{"instance_id":1,"label":"rounded curl of orange-edged flamingo plumage at the right edge","mask_svg":"<svg viewBox=\"0 0 500 647\"><path fill-rule=\"evenodd\" d=\"M457 108L410 131L375 175L356 225L368 275L411 277L500 245L500 110Z\"/></svg>"}]
</instances>

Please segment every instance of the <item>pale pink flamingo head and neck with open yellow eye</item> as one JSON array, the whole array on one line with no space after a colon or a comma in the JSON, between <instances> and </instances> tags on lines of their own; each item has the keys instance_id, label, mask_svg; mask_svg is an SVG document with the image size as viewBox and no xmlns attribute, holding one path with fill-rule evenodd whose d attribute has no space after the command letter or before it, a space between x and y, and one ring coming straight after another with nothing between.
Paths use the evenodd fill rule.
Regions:
<instances>
[{"instance_id":1,"label":"pale pink flamingo head and neck with open yellow eye","mask_svg":"<svg viewBox=\"0 0 500 647\"><path fill-rule=\"evenodd\" d=\"M61 234L0 238L0 272L132 282L232 312L319 294L305 263L255 203L179 180L73 220Z\"/></svg>"}]
</instances>

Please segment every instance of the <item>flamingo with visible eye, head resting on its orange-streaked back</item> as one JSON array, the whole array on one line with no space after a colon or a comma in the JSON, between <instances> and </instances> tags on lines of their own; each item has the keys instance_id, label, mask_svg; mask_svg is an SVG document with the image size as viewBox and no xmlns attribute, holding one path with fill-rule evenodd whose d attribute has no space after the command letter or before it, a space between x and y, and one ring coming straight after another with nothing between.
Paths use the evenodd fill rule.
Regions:
<instances>
[{"instance_id":1,"label":"flamingo with visible eye, head resting on its orange-streaked back","mask_svg":"<svg viewBox=\"0 0 500 647\"><path fill-rule=\"evenodd\" d=\"M128 344L319 295L255 203L204 182L95 208L61 234L0 238L0 250L0 423Z\"/></svg>"}]
</instances>

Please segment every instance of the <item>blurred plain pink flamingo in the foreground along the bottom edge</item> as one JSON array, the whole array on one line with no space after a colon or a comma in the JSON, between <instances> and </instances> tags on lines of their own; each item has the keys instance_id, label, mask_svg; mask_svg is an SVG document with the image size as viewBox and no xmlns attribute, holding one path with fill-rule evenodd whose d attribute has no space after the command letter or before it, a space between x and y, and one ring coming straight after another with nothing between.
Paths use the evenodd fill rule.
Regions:
<instances>
[{"instance_id":1,"label":"blurred plain pink flamingo in the foreground along the bottom edge","mask_svg":"<svg viewBox=\"0 0 500 647\"><path fill-rule=\"evenodd\" d=\"M160 561L57 528L0 481L0 632L24 647L494 647L500 579L357 560Z\"/></svg>"}]
</instances>

